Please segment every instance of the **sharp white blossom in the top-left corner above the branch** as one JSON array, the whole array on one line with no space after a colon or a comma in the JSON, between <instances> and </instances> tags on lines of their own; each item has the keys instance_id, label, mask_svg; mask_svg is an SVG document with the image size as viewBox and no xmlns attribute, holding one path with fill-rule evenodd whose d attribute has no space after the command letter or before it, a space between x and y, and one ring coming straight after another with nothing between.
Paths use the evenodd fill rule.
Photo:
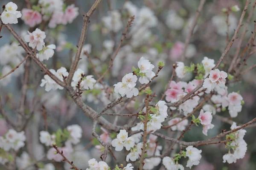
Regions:
<instances>
[{"instance_id":1,"label":"sharp white blossom in the top-left corner above the branch","mask_svg":"<svg viewBox=\"0 0 256 170\"><path fill-rule=\"evenodd\" d=\"M18 18L21 17L21 12L16 11L17 5L15 3L9 2L5 6L5 11L1 14L1 20L4 24L17 24Z\"/></svg>"}]
</instances>

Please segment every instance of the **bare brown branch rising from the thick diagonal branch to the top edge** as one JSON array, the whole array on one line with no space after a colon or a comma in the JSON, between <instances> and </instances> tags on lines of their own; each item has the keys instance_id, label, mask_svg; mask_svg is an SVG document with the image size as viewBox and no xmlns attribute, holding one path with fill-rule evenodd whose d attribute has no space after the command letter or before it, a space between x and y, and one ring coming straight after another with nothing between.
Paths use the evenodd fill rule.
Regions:
<instances>
[{"instance_id":1,"label":"bare brown branch rising from the thick diagonal branch to the top edge","mask_svg":"<svg viewBox=\"0 0 256 170\"><path fill-rule=\"evenodd\" d=\"M83 17L83 27L82 27L82 31L81 31L80 40L79 40L79 43L77 45L77 51L76 51L75 59L71 64L70 72L69 72L69 75L67 77L67 84L68 85L71 85L71 82L72 82L73 76L75 74L78 62L80 60L81 51L82 51L84 41L85 41L85 38L86 38L87 27L88 27L88 24L90 23L90 17L92 16L92 14L96 10L96 8L99 6L99 3L101 1L102 0L96 0L93 3L93 6L89 9L89 11Z\"/></svg>"}]
</instances>

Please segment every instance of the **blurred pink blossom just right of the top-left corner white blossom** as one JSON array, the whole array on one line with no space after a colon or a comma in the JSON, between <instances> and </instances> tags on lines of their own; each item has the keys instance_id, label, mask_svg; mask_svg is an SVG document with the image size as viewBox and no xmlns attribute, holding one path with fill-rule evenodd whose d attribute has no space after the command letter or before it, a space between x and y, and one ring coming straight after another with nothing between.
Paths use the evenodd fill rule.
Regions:
<instances>
[{"instance_id":1,"label":"blurred pink blossom just right of the top-left corner white blossom","mask_svg":"<svg viewBox=\"0 0 256 170\"><path fill-rule=\"evenodd\" d=\"M30 27L34 27L35 25L40 24L42 22L42 15L38 11L23 8L21 14L21 19L24 20L24 22Z\"/></svg>"}]
</instances>

